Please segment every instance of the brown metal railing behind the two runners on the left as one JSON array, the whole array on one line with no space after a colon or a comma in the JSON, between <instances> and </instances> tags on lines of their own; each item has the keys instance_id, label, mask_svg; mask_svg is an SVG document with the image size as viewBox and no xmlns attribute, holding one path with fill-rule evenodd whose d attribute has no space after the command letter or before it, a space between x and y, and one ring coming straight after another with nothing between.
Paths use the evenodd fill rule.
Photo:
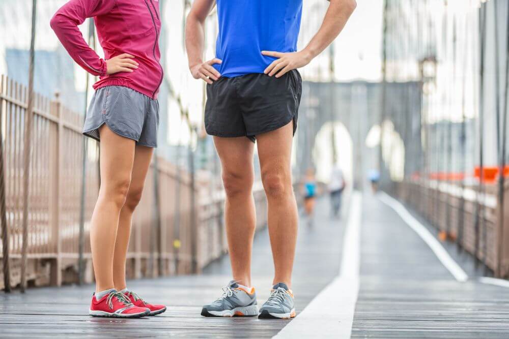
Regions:
<instances>
[{"instance_id":1,"label":"brown metal railing behind the two runners on the left","mask_svg":"<svg viewBox=\"0 0 509 339\"><path fill-rule=\"evenodd\" d=\"M85 167L86 222L80 232L83 117L66 109L58 97L51 101L34 94L34 98L26 281L30 285L59 286L78 282L81 274L83 282L92 282L89 220L99 190L98 143L86 139L89 143ZM0 257L4 268L0 272L0 288L6 289L21 282L26 114L27 89L2 76L0 200L5 199L0 202L5 202L5 209L0 208ZM142 200L133 217L128 278L196 272L227 251L223 233L224 193L218 190L210 194L209 183L200 182L193 195L192 179L191 173L164 159L158 158L151 164ZM263 227L267 213L260 185L254 189L254 197L258 227Z\"/></svg>"}]
</instances>

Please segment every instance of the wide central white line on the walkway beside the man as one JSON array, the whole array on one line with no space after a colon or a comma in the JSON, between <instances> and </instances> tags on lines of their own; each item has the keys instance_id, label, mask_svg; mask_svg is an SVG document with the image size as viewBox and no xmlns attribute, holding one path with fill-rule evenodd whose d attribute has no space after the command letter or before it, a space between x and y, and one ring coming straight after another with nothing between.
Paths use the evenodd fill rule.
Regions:
<instances>
[{"instance_id":1,"label":"wide central white line on the walkway beside the man","mask_svg":"<svg viewBox=\"0 0 509 339\"><path fill-rule=\"evenodd\" d=\"M274 338L350 338L359 293L361 202L361 194L354 192L343 239L340 275Z\"/></svg>"}]
</instances>

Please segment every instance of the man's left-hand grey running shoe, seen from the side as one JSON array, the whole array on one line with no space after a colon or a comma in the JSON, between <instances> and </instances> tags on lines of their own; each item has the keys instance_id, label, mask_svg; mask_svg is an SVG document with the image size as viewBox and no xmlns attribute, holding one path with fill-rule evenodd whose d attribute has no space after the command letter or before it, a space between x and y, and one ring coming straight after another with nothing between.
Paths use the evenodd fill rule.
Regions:
<instances>
[{"instance_id":1,"label":"man's left-hand grey running shoe, seen from the side","mask_svg":"<svg viewBox=\"0 0 509 339\"><path fill-rule=\"evenodd\" d=\"M204 317L233 317L258 315L258 302L254 288L246 291L232 280L223 287L223 294L213 303L203 306Z\"/></svg>"}]
</instances>

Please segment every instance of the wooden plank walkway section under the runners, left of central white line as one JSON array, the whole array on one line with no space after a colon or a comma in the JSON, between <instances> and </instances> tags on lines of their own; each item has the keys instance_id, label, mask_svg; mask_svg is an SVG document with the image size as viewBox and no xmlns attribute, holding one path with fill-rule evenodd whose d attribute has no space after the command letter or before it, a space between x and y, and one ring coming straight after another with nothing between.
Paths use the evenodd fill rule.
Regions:
<instances>
[{"instance_id":1,"label":"wooden plank walkway section under the runners, left of central white line","mask_svg":"<svg viewBox=\"0 0 509 339\"><path fill-rule=\"evenodd\" d=\"M339 271L344 228L328 217L328 201L318 204L314 227L301 221L293 291L299 313ZM267 230L253 246L253 286L261 304L272 286L273 265ZM214 262L199 276L137 280L129 287L147 300L168 305L160 316L143 319L101 319L88 316L92 286L37 288L0 292L0 337L190 337L270 338L288 320L205 318L202 305L222 293L231 280L229 258ZM51 302L51 304L49 303Z\"/></svg>"}]
</instances>

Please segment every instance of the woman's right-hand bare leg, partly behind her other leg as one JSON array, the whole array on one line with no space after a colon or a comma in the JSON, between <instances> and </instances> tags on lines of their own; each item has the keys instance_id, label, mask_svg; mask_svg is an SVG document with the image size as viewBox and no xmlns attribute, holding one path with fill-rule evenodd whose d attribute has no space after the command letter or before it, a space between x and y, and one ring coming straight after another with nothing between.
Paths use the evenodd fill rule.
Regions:
<instances>
[{"instance_id":1,"label":"woman's right-hand bare leg, partly behind her other leg","mask_svg":"<svg viewBox=\"0 0 509 339\"><path fill-rule=\"evenodd\" d=\"M131 184L124 206L120 211L117 241L113 257L113 281L117 291L126 288L126 257L131 236L131 221L134 209L142 198L145 178L150 167L154 148L137 145L134 152Z\"/></svg>"}]
</instances>

